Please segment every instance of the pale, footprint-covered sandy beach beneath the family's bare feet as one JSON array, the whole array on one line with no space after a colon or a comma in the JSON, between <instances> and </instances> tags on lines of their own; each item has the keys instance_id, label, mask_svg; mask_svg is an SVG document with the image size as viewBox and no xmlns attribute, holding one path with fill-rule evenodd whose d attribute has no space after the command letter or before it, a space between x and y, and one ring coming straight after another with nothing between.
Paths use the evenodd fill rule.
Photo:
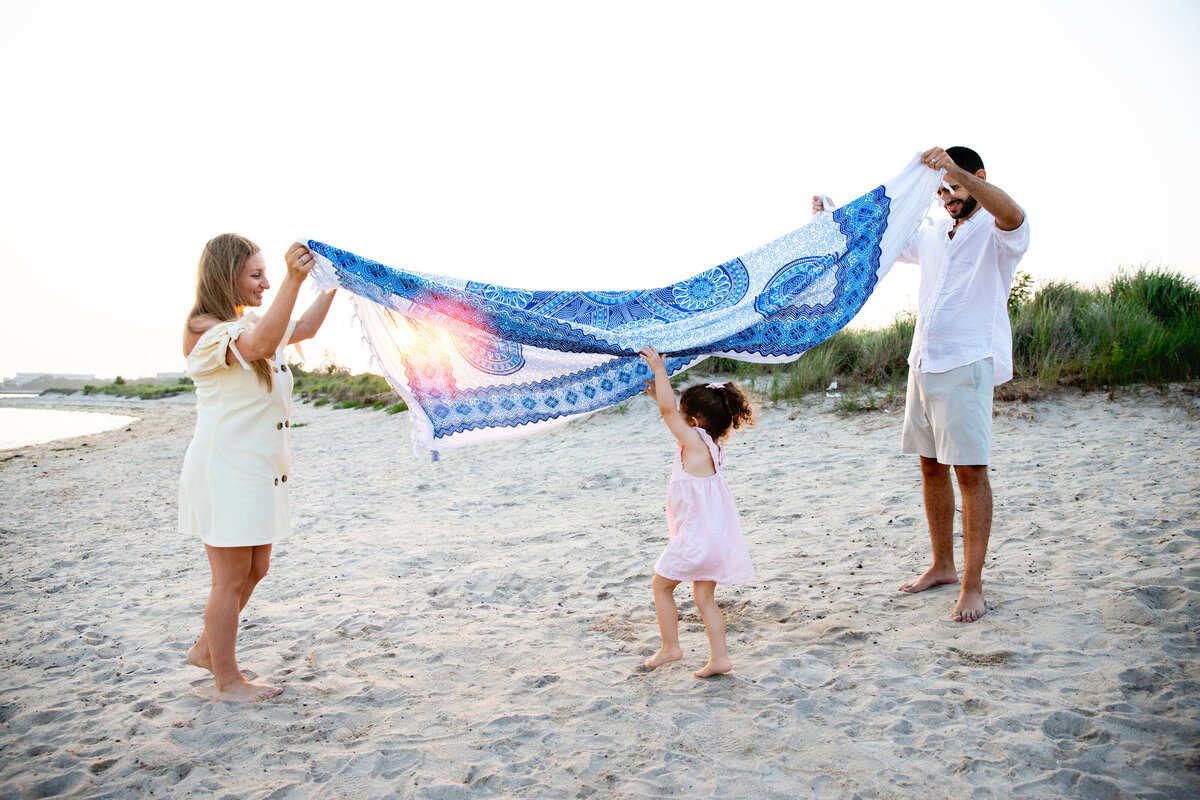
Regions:
<instances>
[{"instance_id":1,"label":"pale, footprint-covered sandy beach beneath the family's bare feet","mask_svg":"<svg viewBox=\"0 0 1200 800\"><path fill-rule=\"evenodd\" d=\"M688 587L684 660L641 667L649 398L438 463L407 414L298 404L293 535L239 639L286 691L252 706L184 658L191 403L65 398L139 421L0 452L0 800L1200 796L1195 387L997 403L971 625L954 588L896 591L929 558L901 415L764 403L730 444L758 578L718 589L713 680Z\"/></svg>"}]
</instances>

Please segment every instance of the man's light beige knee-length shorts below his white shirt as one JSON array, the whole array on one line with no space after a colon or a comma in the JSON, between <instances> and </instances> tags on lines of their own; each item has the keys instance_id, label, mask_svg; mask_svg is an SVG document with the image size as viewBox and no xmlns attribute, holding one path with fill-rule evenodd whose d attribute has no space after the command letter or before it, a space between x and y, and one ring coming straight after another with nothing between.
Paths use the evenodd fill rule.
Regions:
<instances>
[{"instance_id":1,"label":"man's light beige knee-length shorts below his white shirt","mask_svg":"<svg viewBox=\"0 0 1200 800\"><path fill-rule=\"evenodd\" d=\"M905 455L950 465L982 465L991 453L991 359L949 372L908 371Z\"/></svg>"}]
</instances>

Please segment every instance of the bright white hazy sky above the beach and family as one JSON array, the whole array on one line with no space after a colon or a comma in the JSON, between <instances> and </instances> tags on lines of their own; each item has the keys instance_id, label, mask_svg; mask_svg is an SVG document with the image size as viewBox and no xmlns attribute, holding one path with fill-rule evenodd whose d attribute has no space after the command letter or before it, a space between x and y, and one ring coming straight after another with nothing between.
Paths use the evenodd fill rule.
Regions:
<instances>
[{"instance_id":1,"label":"bright white hazy sky above the beach and family","mask_svg":"<svg viewBox=\"0 0 1200 800\"><path fill-rule=\"evenodd\" d=\"M1193 0L0 0L0 377L181 371L226 230L275 279L310 236L526 288L662 285L932 145L973 146L1025 206L1039 282L1200 277L1198 41ZM914 294L898 265L854 324ZM367 368L348 307L307 366Z\"/></svg>"}]
</instances>

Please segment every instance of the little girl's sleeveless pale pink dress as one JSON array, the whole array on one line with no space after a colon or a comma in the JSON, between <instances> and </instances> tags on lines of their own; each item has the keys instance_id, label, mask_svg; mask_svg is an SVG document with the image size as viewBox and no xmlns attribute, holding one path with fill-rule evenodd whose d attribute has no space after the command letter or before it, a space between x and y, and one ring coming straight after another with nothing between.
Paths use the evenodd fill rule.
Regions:
<instances>
[{"instance_id":1,"label":"little girl's sleeveless pale pink dress","mask_svg":"<svg viewBox=\"0 0 1200 800\"><path fill-rule=\"evenodd\" d=\"M716 474L689 475L683 469L683 444L676 453L667 491L667 527L671 541L654 571L668 581L750 583L754 566L742 539L738 510L721 474L725 449L713 444L703 428L695 428L708 445Z\"/></svg>"}]
</instances>

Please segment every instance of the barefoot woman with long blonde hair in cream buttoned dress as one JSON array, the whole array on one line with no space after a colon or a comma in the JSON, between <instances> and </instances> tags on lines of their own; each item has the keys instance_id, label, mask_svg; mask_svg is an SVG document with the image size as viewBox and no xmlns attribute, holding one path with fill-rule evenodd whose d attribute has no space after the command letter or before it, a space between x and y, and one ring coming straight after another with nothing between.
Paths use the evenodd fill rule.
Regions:
<instances>
[{"instance_id":1,"label":"barefoot woman with long blonde hair in cream buttoned dress","mask_svg":"<svg viewBox=\"0 0 1200 800\"><path fill-rule=\"evenodd\" d=\"M187 372L196 381L196 435L184 458L179 527L204 542L212 587L204 631L187 660L212 673L214 699L257 703L283 688L252 684L238 668L238 618L271 560L271 543L290 529L288 473L292 373L283 347L312 338L334 291L317 297L299 320L292 309L314 257L292 245L278 295L262 317L270 289L258 245L222 234L204 246L196 305L184 329Z\"/></svg>"}]
</instances>

